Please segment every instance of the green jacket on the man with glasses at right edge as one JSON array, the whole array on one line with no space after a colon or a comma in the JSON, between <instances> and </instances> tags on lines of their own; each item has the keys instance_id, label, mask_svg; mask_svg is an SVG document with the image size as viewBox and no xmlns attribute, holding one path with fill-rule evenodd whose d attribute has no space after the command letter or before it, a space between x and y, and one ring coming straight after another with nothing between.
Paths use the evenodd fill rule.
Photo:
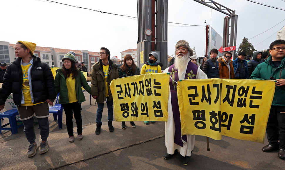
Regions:
<instances>
[{"instance_id":1,"label":"green jacket on the man with glasses at right edge","mask_svg":"<svg viewBox=\"0 0 285 170\"><path fill-rule=\"evenodd\" d=\"M285 79L285 57L282 59L280 66L275 68L272 63L272 56L270 56L265 62L256 66L250 78L256 80L270 80L271 76L275 79ZM266 90L266 87L264 87L263 90ZM285 90L280 86L275 87L272 105L285 106Z\"/></svg>"}]
</instances>

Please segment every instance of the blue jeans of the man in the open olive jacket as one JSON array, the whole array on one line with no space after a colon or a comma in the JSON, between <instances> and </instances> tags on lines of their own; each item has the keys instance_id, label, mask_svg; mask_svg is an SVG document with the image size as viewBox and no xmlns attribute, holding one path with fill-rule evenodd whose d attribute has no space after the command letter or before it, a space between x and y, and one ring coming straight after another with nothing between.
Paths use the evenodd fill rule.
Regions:
<instances>
[{"instance_id":1,"label":"blue jeans of the man in the open olive jacket","mask_svg":"<svg viewBox=\"0 0 285 170\"><path fill-rule=\"evenodd\" d=\"M107 102L107 108L108 108L108 122L113 121L113 100L108 101L109 97L106 97L106 102ZM98 104L98 109L97 109L97 117L96 117L96 123L97 124L102 124L101 119L102 119L102 113L104 109L104 103L97 103Z\"/></svg>"}]
</instances>

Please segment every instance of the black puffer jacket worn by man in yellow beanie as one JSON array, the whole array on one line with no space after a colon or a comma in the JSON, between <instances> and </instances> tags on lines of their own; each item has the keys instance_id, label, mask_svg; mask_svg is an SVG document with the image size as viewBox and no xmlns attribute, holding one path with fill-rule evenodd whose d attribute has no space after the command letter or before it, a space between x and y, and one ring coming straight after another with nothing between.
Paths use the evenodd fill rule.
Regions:
<instances>
[{"instance_id":1,"label":"black puffer jacket worn by man in yellow beanie","mask_svg":"<svg viewBox=\"0 0 285 170\"><path fill-rule=\"evenodd\" d=\"M34 104L44 102L47 99L55 99L56 92L54 87L53 74L48 64L41 61L36 56L33 57L31 68L31 86ZM21 68L21 58L16 58L6 69L2 88L0 89L0 105L13 93L13 100L17 106L21 106L23 75Z\"/></svg>"}]
</instances>

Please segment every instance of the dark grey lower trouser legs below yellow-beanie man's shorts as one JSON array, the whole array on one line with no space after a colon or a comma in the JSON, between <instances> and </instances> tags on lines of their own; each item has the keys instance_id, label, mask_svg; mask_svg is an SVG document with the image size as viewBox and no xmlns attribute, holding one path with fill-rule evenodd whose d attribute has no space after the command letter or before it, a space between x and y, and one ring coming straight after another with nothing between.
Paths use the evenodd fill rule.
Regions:
<instances>
[{"instance_id":1,"label":"dark grey lower trouser legs below yellow-beanie man's shorts","mask_svg":"<svg viewBox=\"0 0 285 170\"><path fill-rule=\"evenodd\" d=\"M42 141L46 141L49 134L49 123L48 118L37 118L38 119L38 126L40 127L40 134ZM24 132L26 135L26 138L30 142L30 144L35 143L36 139L36 133L35 133L35 127L34 127L34 117L31 117L30 119L23 120L24 124Z\"/></svg>"}]
</instances>

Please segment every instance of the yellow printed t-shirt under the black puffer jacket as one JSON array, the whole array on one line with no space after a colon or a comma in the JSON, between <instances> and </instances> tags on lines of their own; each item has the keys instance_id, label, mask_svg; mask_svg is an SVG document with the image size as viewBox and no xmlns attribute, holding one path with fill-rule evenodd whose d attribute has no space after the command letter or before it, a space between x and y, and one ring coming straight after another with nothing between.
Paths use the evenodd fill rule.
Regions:
<instances>
[{"instance_id":1,"label":"yellow printed t-shirt under the black puffer jacket","mask_svg":"<svg viewBox=\"0 0 285 170\"><path fill-rule=\"evenodd\" d=\"M33 105L45 102L44 101L44 102L40 102L40 103L36 103L36 104L32 103L32 98L31 98L31 93L30 93L30 85L29 85L29 75L28 75L28 70L29 70L30 66L31 66L31 64L28 64L26 66L21 65L22 73L23 73L22 91L23 91L24 100L25 100L25 104L21 104L22 106L33 106Z\"/></svg>"}]
</instances>

